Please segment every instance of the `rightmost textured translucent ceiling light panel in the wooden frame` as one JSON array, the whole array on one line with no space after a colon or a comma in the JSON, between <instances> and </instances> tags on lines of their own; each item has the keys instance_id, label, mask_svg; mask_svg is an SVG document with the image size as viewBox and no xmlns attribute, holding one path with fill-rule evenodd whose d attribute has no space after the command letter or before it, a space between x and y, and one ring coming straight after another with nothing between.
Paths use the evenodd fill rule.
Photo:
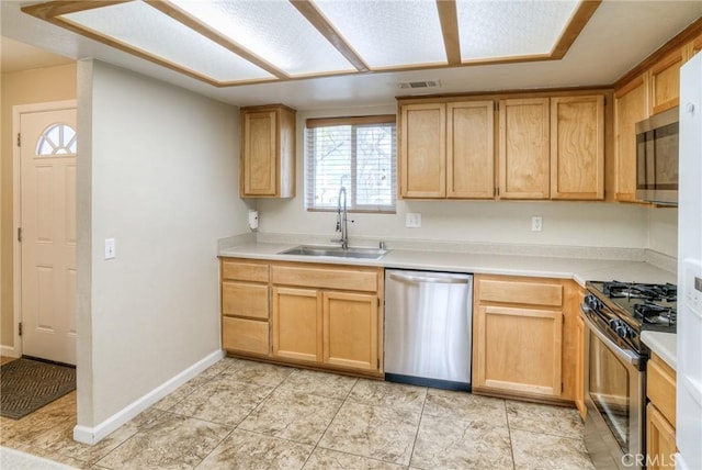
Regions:
<instances>
[{"instance_id":1,"label":"rightmost textured translucent ceiling light panel in the wooden frame","mask_svg":"<svg viewBox=\"0 0 702 470\"><path fill-rule=\"evenodd\" d=\"M579 0L457 0L462 60L548 55Z\"/></svg>"}]
</instances>

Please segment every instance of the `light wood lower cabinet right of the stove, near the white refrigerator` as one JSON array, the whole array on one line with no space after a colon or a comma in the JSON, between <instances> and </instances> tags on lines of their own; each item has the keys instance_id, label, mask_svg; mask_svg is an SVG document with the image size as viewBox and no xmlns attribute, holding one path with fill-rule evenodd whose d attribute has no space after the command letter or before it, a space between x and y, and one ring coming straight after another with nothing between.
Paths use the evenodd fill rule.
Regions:
<instances>
[{"instance_id":1,"label":"light wood lower cabinet right of the stove, near the white refrigerator","mask_svg":"<svg viewBox=\"0 0 702 470\"><path fill-rule=\"evenodd\" d=\"M646 365L647 469L673 469L676 447L676 371L653 354Z\"/></svg>"}]
</instances>

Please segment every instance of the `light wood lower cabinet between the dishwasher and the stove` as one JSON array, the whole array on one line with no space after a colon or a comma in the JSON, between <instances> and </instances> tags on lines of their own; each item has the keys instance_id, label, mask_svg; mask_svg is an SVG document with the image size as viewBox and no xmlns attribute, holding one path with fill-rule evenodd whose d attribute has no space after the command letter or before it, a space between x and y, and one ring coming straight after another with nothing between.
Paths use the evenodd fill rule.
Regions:
<instances>
[{"instance_id":1,"label":"light wood lower cabinet between the dishwasher and the stove","mask_svg":"<svg viewBox=\"0 0 702 470\"><path fill-rule=\"evenodd\" d=\"M582 389L584 325L578 331L576 284L485 275L474 280L474 393L582 402L577 393Z\"/></svg>"}]
</instances>

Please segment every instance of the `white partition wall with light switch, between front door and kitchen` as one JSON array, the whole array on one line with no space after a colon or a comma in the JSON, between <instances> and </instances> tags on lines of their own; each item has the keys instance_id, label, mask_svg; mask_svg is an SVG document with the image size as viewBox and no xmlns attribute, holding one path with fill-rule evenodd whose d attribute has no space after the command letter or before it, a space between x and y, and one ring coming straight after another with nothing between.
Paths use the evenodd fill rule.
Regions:
<instances>
[{"instance_id":1,"label":"white partition wall with light switch, between front door and kitchen","mask_svg":"<svg viewBox=\"0 0 702 470\"><path fill-rule=\"evenodd\" d=\"M78 425L93 427L219 349L216 242L248 232L247 206L236 108L86 60L78 113Z\"/></svg>"}]
</instances>

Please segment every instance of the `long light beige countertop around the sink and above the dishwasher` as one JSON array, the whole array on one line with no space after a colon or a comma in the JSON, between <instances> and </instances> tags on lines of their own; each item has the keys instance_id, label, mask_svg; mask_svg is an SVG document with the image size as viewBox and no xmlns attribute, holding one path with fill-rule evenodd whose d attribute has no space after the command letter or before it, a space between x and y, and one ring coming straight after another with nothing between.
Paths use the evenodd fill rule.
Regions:
<instances>
[{"instance_id":1,"label":"long light beige countertop around the sink and above the dishwasher","mask_svg":"<svg viewBox=\"0 0 702 470\"><path fill-rule=\"evenodd\" d=\"M296 245L253 242L223 248L218 255L222 257L278 261L574 279L582 287L585 287L585 281L588 280L607 281L615 279L623 282L676 282L673 273L644 261L423 251L415 249L390 249L387 255L378 260L280 255L280 251L294 246Z\"/></svg>"}]
</instances>

